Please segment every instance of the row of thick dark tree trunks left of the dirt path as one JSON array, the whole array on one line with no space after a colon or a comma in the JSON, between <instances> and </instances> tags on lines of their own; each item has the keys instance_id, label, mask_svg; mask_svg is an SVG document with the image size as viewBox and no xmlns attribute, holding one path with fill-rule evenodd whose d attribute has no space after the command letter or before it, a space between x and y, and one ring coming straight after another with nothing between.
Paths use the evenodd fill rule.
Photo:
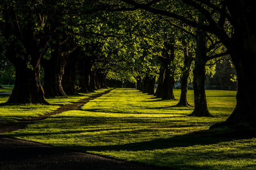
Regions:
<instances>
[{"instance_id":1,"label":"row of thick dark tree trunks left of the dirt path","mask_svg":"<svg viewBox=\"0 0 256 170\"><path fill-rule=\"evenodd\" d=\"M93 57L84 55L81 48L72 42L61 44L60 36L56 36L51 57L33 57L29 67L26 57L15 57L14 52L11 52L6 54L15 66L16 78L8 103L48 104L45 97L67 97L77 95L79 90L88 93L107 88L106 71L92 69L95 63ZM43 86L40 82L40 66L44 67Z\"/></svg>"}]
</instances>

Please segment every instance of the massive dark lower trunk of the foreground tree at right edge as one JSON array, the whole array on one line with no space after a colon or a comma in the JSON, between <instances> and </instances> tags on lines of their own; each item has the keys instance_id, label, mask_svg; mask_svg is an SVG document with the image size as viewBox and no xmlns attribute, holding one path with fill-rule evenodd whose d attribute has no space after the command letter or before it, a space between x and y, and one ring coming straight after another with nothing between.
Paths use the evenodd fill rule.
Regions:
<instances>
[{"instance_id":1,"label":"massive dark lower trunk of the foreground tree at right edge","mask_svg":"<svg viewBox=\"0 0 256 170\"><path fill-rule=\"evenodd\" d=\"M237 104L232 115L227 119L227 124L242 125L243 127L256 126L256 81L253 78L256 73L256 53L254 54L252 55L247 49L233 54L232 59L236 66L238 81ZM241 57L242 55L250 57L250 60L248 58L244 59ZM235 60L234 57L236 57Z\"/></svg>"}]
</instances>

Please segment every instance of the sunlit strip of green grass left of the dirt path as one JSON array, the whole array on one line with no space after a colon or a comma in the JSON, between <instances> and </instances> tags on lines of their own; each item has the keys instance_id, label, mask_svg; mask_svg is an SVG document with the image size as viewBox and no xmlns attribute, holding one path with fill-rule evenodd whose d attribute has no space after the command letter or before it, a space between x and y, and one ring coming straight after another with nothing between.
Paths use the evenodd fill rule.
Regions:
<instances>
[{"instance_id":1,"label":"sunlit strip of green grass left of the dirt path","mask_svg":"<svg viewBox=\"0 0 256 170\"><path fill-rule=\"evenodd\" d=\"M5 92L10 92L12 88L4 88ZM52 105L42 105L42 104L5 104L10 95L0 95L0 124L7 124L9 122L16 122L29 117L36 117L38 115L44 115L45 113L52 112L60 108L63 104L70 104L80 99L90 97L94 94L104 92L106 89L96 90L90 94L80 94L79 96L70 96L68 98L56 97L51 99L46 99Z\"/></svg>"}]
</instances>

